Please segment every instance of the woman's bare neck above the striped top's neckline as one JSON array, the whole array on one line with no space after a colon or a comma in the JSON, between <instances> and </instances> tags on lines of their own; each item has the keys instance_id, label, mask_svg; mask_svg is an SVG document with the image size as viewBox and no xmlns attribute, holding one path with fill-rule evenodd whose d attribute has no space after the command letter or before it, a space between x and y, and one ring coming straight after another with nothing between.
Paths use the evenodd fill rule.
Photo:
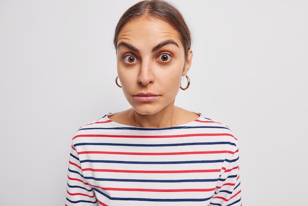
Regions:
<instances>
[{"instance_id":1,"label":"woman's bare neck above the striped top's neckline","mask_svg":"<svg viewBox=\"0 0 308 206\"><path fill-rule=\"evenodd\" d=\"M155 114L139 114L133 108L129 110L131 122L136 127L167 128L177 124L182 114L182 108L172 105L172 108L164 108Z\"/></svg>"}]
</instances>

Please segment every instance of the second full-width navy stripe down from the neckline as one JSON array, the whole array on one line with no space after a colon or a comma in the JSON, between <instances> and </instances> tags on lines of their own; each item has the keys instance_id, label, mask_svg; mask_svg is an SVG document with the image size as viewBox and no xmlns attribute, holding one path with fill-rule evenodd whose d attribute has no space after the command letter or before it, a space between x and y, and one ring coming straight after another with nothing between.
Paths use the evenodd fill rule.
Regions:
<instances>
[{"instance_id":1,"label":"second full-width navy stripe down from the neckline","mask_svg":"<svg viewBox=\"0 0 308 206\"><path fill-rule=\"evenodd\" d=\"M74 147L82 145L165 147L165 146L190 146L190 145L214 145L214 144L229 144L236 146L235 143L232 143L230 141L216 141L216 142L188 142L188 143L176 143L176 144L123 144L123 143L85 142L85 143L76 143L74 144Z\"/></svg>"}]
</instances>

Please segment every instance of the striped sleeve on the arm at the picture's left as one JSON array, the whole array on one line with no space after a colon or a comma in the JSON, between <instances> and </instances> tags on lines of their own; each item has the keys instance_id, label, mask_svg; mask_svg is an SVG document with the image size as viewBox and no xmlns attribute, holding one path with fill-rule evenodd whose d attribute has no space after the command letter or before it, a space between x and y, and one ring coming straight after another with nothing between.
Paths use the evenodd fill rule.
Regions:
<instances>
[{"instance_id":1,"label":"striped sleeve on the arm at the picture's left","mask_svg":"<svg viewBox=\"0 0 308 206\"><path fill-rule=\"evenodd\" d=\"M65 206L98 206L93 188L85 181L78 153L73 145L68 165Z\"/></svg>"}]
</instances>

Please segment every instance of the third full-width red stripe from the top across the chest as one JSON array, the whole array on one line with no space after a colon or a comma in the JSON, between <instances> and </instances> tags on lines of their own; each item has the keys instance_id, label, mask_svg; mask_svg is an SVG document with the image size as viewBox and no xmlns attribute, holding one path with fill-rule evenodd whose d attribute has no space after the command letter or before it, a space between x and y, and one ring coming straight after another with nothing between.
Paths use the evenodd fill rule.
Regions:
<instances>
[{"instance_id":1,"label":"third full-width red stripe from the top across the chest","mask_svg":"<svg viewBox=\"0 0 308 206\"><path fill-rule=\"evenodd\" d=\"M107 170L107 169L92 169L85 168L82 171L93 172L126 172L126 173L192 173L192 172L220 172L219 169L215 170L178 170L178 171L142 171L142 170Z\"/></svg>"}]
</instances>

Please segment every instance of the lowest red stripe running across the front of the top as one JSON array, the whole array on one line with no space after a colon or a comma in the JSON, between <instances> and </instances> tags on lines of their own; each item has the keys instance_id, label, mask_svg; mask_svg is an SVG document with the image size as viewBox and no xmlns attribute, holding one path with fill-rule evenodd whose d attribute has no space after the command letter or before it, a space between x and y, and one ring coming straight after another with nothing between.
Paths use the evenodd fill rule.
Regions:
<instances>
[{"instance_id":1,"label":"lowest red stripe running across the front of the top","mask_svg":"<svg viewBox=\"0 0 308 206\"><path fill-rule=\"evenodd\" d=\"M209 192L214 191L215 188L211 189L141 189L141 188L112 188L112 187L101 187L103 190L112 191L140 191L140 192Z\"/></svg>"}]
</instances>

